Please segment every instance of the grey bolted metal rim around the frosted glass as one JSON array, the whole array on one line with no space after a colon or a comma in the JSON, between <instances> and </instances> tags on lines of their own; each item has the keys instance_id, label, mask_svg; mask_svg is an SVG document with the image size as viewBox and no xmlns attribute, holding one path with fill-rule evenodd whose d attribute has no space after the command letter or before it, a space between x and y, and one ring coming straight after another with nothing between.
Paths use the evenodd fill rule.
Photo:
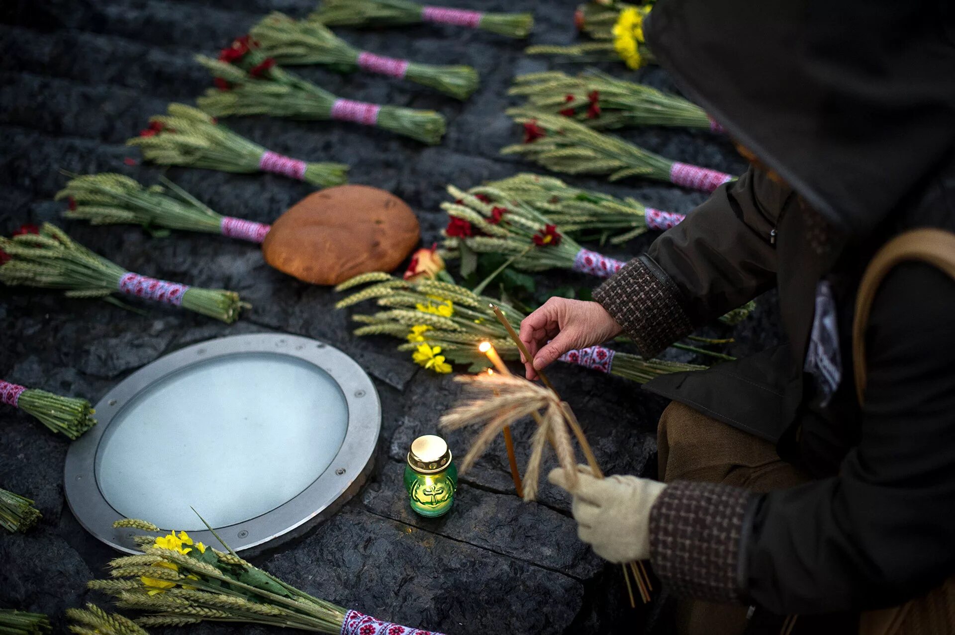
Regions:
<instances>
[{"instance_id":1,"label":"grey bolted metal rim around the frosted glass","mask_svg":"<svg viewBox=\"0 0 955 635\"><path fill-rule=\"evenodd\" d=\"M99 400L96 426L71 444L64 467L67 503L84 529L119 551L138 553L132 538L141 532L113 527L115 520L124 517L106 501L96 482L96 452L103 434L131 399L160 379L193 364L248 352L285 354L328 372L345 395L348 430L329 467L302 493L256 518L216 527L216 533L236 551L254 554L266 545L274 546L268 544L272 540L308 531L357 492L371 472L381 432L381 403L371 377L350 356L318 340L284 333L230 335L164 355L119 382ZM219 544L207 530L192 536L205 544Z\"/></svg>"}]
</instances>

